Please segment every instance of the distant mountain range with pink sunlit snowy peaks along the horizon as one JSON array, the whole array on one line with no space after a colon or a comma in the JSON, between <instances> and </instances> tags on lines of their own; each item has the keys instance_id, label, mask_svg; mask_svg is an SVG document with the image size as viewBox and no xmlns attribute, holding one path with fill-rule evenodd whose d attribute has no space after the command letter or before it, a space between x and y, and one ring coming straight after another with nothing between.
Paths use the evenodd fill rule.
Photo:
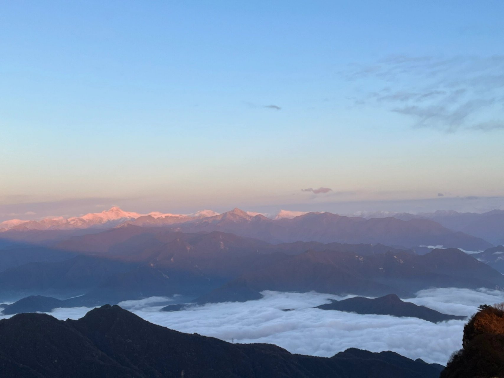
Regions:
<instances>
[{"instance_id":1,"label":"distant mountain range with pink sunlit snowy peaks along the horizon","mask_svg":"<svg viewBox=\"0 0 504 378\"><path fill-rule=\"evenodd\" d=\"M280 213L278 216L280 216ZM41 221L7 221L0 239L50 243L83 233L96 233L121 225L166 227L182 232L222 231L253 237L270 243L318 241L322 243L382 243L402 247L443 245L466 250L484 250L493 246L482 238L452 231L429 219L401 220L393 217L346 217L332 213L283 213L284 217L270 219L240 209L217 214L212 211L193 215L149 213L146 215L112 208L102 213L76 218L54 218ZM9 223L10 222L10 223Z\"/></svg>"}]
</instances>

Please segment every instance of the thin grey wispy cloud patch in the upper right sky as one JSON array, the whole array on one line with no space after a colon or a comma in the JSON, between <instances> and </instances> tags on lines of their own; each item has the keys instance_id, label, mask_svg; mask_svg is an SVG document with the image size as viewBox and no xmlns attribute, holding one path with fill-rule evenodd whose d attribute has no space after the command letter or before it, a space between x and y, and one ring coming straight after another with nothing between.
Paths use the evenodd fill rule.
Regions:
<instances>
[{"instance_id":1,"label":"thin grey wispy cloud patch in the upper right sky","mask_svg":"<svg viewBox=\"0 0 504 378\"><path fill-rule=\"evenodd\" d=\"M409 117L414 128L453 133L504 129L504 55L396 55L352 65L344 76L374 90L354 104L381 106Z\"/></svg>"}]
</instances>

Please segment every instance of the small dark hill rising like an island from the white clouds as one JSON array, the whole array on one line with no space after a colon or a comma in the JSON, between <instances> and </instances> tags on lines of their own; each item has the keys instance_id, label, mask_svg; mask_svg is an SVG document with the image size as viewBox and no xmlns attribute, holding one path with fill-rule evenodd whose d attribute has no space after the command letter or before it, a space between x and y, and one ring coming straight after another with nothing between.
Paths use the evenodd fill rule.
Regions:
<instances>
[{"instance_id":1,"label":"small dark hill rising like an island from the white clouds","mask_svg":"<svg viewBox=\"0 0 504 378\"><path fill-rule=\"evenodd\" d=\"M392 315L395 317L413 317L432 323L466 319L466 317L448 315L428 307L404 302L396 294L389 294L379 298L354 297L340 301L331 299L331 303L321 304L317 306L317 308L323 310Z\"/></svg>"}]
</instances>

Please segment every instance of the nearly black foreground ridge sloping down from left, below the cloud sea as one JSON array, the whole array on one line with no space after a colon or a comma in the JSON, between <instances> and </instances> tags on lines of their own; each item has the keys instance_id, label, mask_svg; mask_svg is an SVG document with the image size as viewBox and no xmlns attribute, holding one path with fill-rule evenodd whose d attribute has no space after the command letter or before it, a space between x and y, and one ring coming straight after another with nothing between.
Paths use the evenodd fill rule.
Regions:
<instances>
[{"instance_id":1,"label":"nearly black foreground ridge sloping down from left, below the cloud sea","mask_svg":"<svg viewBox=\"0 0 504 378\"><path fill-rule=\"evenodd\" d=\"M0 340L3 378L437 378L443 369L394 352L352 348L323 358L270 344L230 344L110 305L77 321L18 314L0 321Z\"/></svg>"}]
</instances>

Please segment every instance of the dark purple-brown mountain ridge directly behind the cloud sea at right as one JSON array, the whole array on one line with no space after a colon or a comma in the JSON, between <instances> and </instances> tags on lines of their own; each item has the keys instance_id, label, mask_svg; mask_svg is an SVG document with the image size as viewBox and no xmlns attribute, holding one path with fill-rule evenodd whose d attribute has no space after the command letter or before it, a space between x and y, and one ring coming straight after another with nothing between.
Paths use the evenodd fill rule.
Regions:
<instances>
[{"instance_id":1,"label":"dark purple-brown mountain ridge directly behind the cloud sea at right","mask_svg":"<svg viewBox=\"0 0 504 378\"><path fill-rule=\"evenodd\" d=\"M331 294L411 296L429 287L498 288L504 276L459 249L434 249L417 256L404 252L359 256L307 251L242 274L203 295L198 303L261 298L263 290Z\"/></svg>"}]
</instances>

